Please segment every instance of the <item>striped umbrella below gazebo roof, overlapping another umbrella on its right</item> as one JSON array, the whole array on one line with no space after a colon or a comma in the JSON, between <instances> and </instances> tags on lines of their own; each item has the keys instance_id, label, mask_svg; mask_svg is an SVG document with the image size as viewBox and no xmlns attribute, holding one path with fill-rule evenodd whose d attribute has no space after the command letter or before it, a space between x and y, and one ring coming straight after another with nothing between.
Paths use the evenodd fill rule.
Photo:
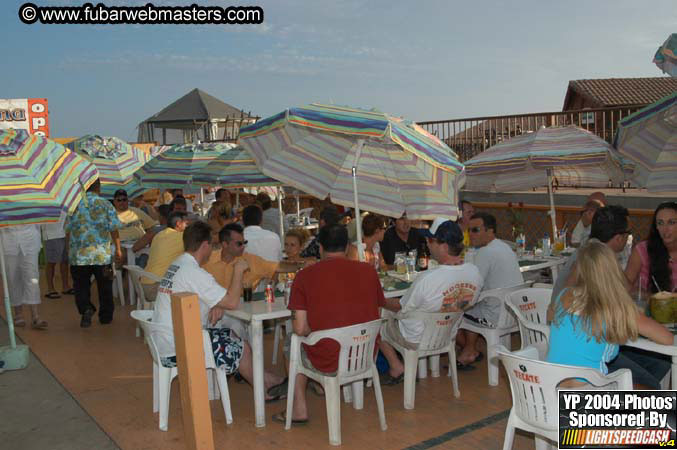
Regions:
<instances>
[{"instance_id":1,"label":"striped umbrella below gazebo roof, overlapping another umbrella on its right","mask_svg":"<svg viewBox=\"0 0 677 450\"><path fill-rule=\"evenodd\" d=\"M134 177L145 188L186 189L212 160L234 147L228 143L176 144L158 154Z\"/></svg>"}]
</instances>

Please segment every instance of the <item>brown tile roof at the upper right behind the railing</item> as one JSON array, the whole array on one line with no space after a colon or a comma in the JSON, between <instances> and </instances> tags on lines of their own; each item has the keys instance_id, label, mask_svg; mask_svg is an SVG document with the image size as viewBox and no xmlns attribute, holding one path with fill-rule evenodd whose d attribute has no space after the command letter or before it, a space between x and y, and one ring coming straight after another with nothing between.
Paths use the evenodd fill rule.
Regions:
<instances>
[{"instance_id":1,"label":"brown tile roof at the upper right behind the railing","mask_svg":"<svg viewBox=\"0 0 677 450\"><path fill-rule=\"evenodd\" d=\"M648 105L677 91L677 78L606 78L572 80L564 99L564 111L574 94L585 97L596 107Z\"/></svg>"}]
</instances>

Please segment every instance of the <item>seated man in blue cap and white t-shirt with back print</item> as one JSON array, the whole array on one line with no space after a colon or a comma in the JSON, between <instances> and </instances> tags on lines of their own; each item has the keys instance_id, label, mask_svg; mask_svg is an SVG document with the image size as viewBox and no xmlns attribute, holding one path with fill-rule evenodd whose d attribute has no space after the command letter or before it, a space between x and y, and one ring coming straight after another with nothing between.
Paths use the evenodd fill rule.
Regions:
<instances>
[{"instance_id":1,"label":"seated man in blue cap and white t-shirt with back print","mask_svg":"<svg viewBox=\"0 0 677 450\"><path fill-rule=\"evenodd\" d=\"M463 231L448 219L438 217L426 230L430 254L440 265L423 272L401 299L386 299L386 308L403 313L456 312L471 307L482 290L482 277L477 267L463 263ZM423 336L424 326L419 320L389 321L385 329L388 340L404 347L416 348ZM404 379L404 365L395 349L381 340L381 351L390 370L383 377L384 384L400 383Z\"/></svg>"}]
</instances>

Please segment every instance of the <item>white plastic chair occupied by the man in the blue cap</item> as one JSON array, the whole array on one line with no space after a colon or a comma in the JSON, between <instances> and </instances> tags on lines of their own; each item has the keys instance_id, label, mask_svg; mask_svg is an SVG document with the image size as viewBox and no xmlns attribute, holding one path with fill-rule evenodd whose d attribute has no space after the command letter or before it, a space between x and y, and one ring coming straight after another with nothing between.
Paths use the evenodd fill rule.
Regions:
<instances>
[{"instance_id":1,"label":"white plastic chair occupied by the man in the blue cap","mask_svg":"<svg viewBox=\"0 0 677 450\"><path fill-rule=\"evenodd\" d=\"M449 355L448 376L451 377L454 397L458 398L461 395L458 390L458 373L456 371L456 332L462 318L462 312L426 313L419 311L397 314L389 318L391 321L396 319L420 320L424 326L421 342L419 342L416 350L406 348L397 340L392 339L392 336L389 336L388 333L382 333L386 342L404 355L404 409L414 409L416 369L419 366L419 358L424 358L423 365L425 367L426 357L436 357L436 363L431 361L431 372L433 377L439 377L439 355L447 353ZM397 324L393 325L398 326Z\"/></svg>"}]
</instances>

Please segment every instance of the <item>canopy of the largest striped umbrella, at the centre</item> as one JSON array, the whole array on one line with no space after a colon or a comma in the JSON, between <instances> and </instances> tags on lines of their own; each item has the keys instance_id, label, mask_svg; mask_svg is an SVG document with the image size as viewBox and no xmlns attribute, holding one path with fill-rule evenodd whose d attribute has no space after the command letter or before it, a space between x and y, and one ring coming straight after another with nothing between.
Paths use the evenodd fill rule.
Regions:
<instances>
[{"instance_id":1,"label":"canopy of the largest striped umbrella, at the centre","mask_svg":"<svg viewBox=\"0 0 677 450\"><path fill-rule=\"evenodd\" d=\"M363 147L356 164L358 142ZM375 110L311 104L240 130L261 171L318 198L391 217L457 216L463 164L416 124Z\"/></svg>"}]
</instances>

